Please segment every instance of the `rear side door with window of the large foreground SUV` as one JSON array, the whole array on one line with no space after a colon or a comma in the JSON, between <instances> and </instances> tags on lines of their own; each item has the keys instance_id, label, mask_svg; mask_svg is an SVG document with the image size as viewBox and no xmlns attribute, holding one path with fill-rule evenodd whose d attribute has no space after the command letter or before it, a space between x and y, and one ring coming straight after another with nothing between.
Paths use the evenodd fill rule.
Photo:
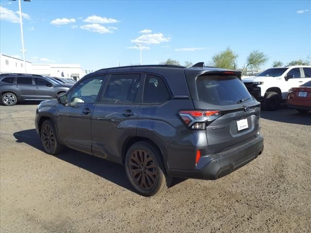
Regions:
<instances>
[{"instance_id":1,"label":"rear side door with window of the large foreground SUV","mask_svg":"<svg viewBox=\"0 0 311 233\"><path fill-rule=\"evenodd\" d=\"M92 115L95 156L121 163L123 142L136 135L141 102L141 75L112 74Z\"/></svg>"}]
</instances>

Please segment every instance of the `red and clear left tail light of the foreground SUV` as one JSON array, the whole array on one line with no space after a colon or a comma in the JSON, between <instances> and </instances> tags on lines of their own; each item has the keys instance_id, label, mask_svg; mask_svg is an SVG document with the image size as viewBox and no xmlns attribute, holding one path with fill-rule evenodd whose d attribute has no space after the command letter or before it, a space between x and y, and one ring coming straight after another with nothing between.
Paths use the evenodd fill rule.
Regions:
<instances>
[{"instance_id":1,"label":"red and clear left tail light of the foreground SUV","mask_svg":"<svg viewBox=\"0 0 311 233\"><path fill-rule=\"evenodd\" d=\"M182 110L178 115L192 130L205 130L207 125L221 116L218 110Z\"/></svg>"}]
</instances>

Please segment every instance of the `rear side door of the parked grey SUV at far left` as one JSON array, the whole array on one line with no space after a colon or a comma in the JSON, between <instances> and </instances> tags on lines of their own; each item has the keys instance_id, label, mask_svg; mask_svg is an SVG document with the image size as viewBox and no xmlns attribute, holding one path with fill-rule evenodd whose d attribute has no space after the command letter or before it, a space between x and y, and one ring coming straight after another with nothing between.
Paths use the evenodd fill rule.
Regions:
<instances>
[{"instance_id":1,"label":"rear side door of the parked grey SUV at far left","mask_svg":"<svg viewBox=\"0 0 311 233\"><path fill-rule=\"evenodd\" d=\"M31 76L17 76L14 89L19 100L35 100L35 85Z\"/></svg>"}]
</instances>

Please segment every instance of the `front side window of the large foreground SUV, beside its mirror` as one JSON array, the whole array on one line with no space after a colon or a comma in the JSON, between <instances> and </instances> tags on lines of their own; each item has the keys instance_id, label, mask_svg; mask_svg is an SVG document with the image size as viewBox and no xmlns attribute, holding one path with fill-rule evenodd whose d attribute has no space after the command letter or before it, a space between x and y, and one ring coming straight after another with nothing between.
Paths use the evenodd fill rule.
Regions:
<instances>
[{"instance_id":1,"label":"front side window of the large foreground SUV, beside its mirror","mask_svg":"<svg viewBox=\"0 0 311 233\"><path fill-rule=\"evenodd\" d=\"M94 76L82 81L69 93L69 102L95 103L103 81L104 76Z\"/></svg>"}]
</instances>

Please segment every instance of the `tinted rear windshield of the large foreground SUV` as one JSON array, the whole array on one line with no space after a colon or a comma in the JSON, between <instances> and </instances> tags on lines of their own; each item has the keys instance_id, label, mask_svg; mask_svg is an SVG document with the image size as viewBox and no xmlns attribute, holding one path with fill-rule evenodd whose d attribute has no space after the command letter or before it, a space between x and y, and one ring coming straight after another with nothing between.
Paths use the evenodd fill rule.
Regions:
<instances>
[{"instance_id":1,"label":"tinted rear windshield of the large foreground SUV","mask_svg":"<svg viewBox=\"0 0 311 233\"><path fill-rule=\"evenodd\" d=\"M203 75L197 78L196 86L199 100L214 105L233 105L252 99L236 76Z\"/></svg>"}]
</instances>

